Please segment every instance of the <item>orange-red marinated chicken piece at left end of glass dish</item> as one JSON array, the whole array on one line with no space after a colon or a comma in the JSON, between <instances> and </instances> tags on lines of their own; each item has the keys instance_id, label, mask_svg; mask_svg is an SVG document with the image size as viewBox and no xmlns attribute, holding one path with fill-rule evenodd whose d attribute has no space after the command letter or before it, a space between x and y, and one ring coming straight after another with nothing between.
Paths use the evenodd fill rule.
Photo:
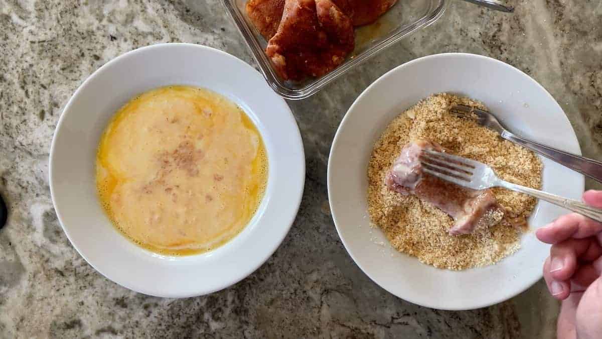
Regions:
<instances>
[{"instance_id":1,"label":"orange-red marinated chicken piece at left end of glass dish","mask_svg":"<svg viewBox=\"0 0 602 339\"><path fill-rule=\"evenodd\" d=\"M270 40L280 25L284 0L249 0L247 15L265 40Z\"/></svg>"}]
</instances>

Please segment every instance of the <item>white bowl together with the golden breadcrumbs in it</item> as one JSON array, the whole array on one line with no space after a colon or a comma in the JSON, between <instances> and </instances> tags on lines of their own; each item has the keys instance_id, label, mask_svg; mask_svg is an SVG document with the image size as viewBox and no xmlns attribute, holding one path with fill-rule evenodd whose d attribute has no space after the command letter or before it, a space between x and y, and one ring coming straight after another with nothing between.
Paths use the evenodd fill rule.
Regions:
<instances>
[{"instance_id":1,"label":"white bowl together with the golden breadcrumbs in it","mask_svg":"<svg viewBox=\"0 0 602 339\"><path fill-rule=\"evenodd\" d=\"M480 55L431 55L383 75L350 107L330 151L328 193L341 241L374 282L418 305L474 309L541 279L549 247L533 230L566 211L494 188L495 224L451 235L452 217L387 185L402 149L429 141L488 164L504 180L568 198L580 199L583 177L458 118L453 104L488 110L518 135L580 154L566 115L528 75Z\"/></svg>"}]
</instances>

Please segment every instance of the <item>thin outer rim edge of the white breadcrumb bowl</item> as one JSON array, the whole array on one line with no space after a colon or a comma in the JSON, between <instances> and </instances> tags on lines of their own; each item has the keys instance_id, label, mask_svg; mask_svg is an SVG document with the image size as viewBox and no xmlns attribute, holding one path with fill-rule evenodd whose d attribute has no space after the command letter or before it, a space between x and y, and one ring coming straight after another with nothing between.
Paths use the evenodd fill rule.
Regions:
<instances>
[{"instance_id":1,"label":"thin outer rim edge of the white breadcrumb bowl","mask_svg":"<svg viewBox=\"0 0 602 339\"><path fill-rule=\"evenodd\" d=\"M353 102L352 106L350 106L349 110L347 110L347 113L343 117L343 119L341 121L341 124L339 125L339 127L337 129L337 133L335 134L334 140L332 142L332 147L330 148L329 162L328 162L328 173L327 173L327 188L328 188L328 198L329 198L329 204L330 204L330 211L332 212L332 218L334 220L335 227L337 228L337 233L338 233L339 237L341 238L341 242L343 242L343 246L347 250L347 253L349 253L349 255L352 257L352 259L355 262L355 264L358 265L358 267L368 277L370 277L370 279L375 284L379 285L384 290L386 290L389 293L391 293L391 294L399 297L400 299L406 300L406 301L414 303L416 305L420 305L420 306L424 306L424 307L429 307L429 308L435 308L435 309L448 310L448 311L464 311L464 310L468 310L468 309L478 309L478 308L483 308L483 307L495 305L497 303L504 302L505 300L508 300L508 299L510 299L512 297L515 297L515 296L517 296L520 293L523 293L524 291L526 291L527 289L529 289L530 287L532 287L533 284L535 284L536 282L538 282L542 278L542 275L543 275L542 271L539 270L538 271L538 275L535 276L535 279L529 280L528 284L526 284L521 289L517 289L517 290L513 291L512 293L504 294L503 296L500 296L500 297L498 297L497 299L494 299L494 300L489 300L488 302L475 302L475 303L471 303L470 306L441 307L441 306L437 305L436 303L424 302L423 300L419 300L419 299L415 298L414 296L410 296L408 294L400 296L399 294L397 294L394 291L392 291L390 288L381 285L377 281L377 279L372 274L369 273L368 268L364 267L361 264L359 264L358 259L353 255L353 250L350 248L350 246L349 246L349 244L347 244L344 236L341 234L341 227L342 226L340 226L340 224L337 223L337 211L336 211L336 208L333 206L332 191L331 191L331 187L330 187L331 186L331 182L332 182L332 178L334 176L334 173L332 173L332 171L331 171L331 166L332 166L332 161L331 161L331 159L332 159L332 152L333 152L333 150L335 150L335 147L336 147L336 145L337 145L337 143L339 141L341 130L344 128L344 125L346 124L347 120L350 117L349 112L352 112L353 109L355 109L355 107L358 105L358 103L360 101L362 101L363 98L365 96L367 96L367 93L370 92L371 90L373 90L374 87L376 87L378 84L382 83L383 81L386 81L386 79L388 77L391 77L394 73L399 72L401 69L409 68L409 67L412 67L413 65L415 65L417 63L421 63L421 62L425 62L425 61L430 61L432 59L445 59L445 57L448 57L448 56L460 56L460 57L471 57L471 58L477 58L477 59L486 59L486 60L489 60L490 62L495 62L495 63L501 64L501 65L503 65L503 66L505 66L507 68L513 69L514 71L517 71L520 74L524 75L524 77L528 78L533 84L535 84L535 86L539 87L539 89L541 89L543 92L545 92L545 95L547 95L548 98L550 98L551 101L553 101L554 103L556 103L556 105L558 106L558 108L560 109L560 111L563 112L562 109L560 108L560 106L557 104L556 100L554 100L554 98L552 97L552 95L543 86L541 86L541 84L539 84L532 77L530 77L528 74L525 74L520 69L517 69L517 68L515 68L514 66L511 66L511 65L508 65L507 63L501 62L500 60L493 59L491 57L486 57L485 55L471 54L471 53L459 53L459 52L433 54L433 55L427 55L427 56L424 56L424 57L420 57L418 59L414 59L414 60L411 60L409 62L403 63L402 65L397 66L396 68L391 69L391 71L388 71L385 74L383 74L376 81L374 81L373 83L371 83L370 86L368 86L361 93L361 95L359 95L359 97L356 98L356 100ZM563 118L565 119L564 122L569 127L571 127L571 134L573 135L574 142L576 142L576 144L577 144L576 145L577 150L574 153L580 155L581 151L580 151L580 147L579 147L579 142L577 141L577 136L574 133L572 125L571 125L568 117L566 117L566 114L564 114ZM381 131L381 133L382 133L382 131ZM585 189L585 178L583 176L580 176L579 182L574 183L573 185L575 185L578 188L580 188L580 190L583 192L583 190ZM538 201L538 204L539 204L539 201ZM537 211L537 207L536 207L536 209L534 211ZM405 255L405 254L403 254L403 255ZM413 259L416 259L416 258L413 258ZM542 264L543 264L543 262L542 262Z\"/></svg>"}]
</instances>

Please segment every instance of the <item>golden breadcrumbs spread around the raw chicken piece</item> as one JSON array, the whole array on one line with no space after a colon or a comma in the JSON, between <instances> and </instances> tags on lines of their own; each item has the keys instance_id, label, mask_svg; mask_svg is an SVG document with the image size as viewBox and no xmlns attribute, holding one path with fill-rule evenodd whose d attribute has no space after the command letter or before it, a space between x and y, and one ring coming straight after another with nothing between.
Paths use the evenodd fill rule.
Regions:
<instances>
[{"instance_id":1,"label":"golden breadcrumbs spread around the raw chicken piece","mask_svg":"<svg viewBox=\"0 0 602 339\"><path fill-rule=\"evenodd\" d=\"M400 252L416 256L421 262L449 270L465 270L495 264L516 252L535 198L494 188L505 213L491 228L477 227L470 235L447 233L453 220L445 212L415 195L389 190L385 174L408 142L425 139L437 142L451 153L491 166L504 180L541 188L542 163L526 148L501 139L498 133L470 119L448 112L453 104L486 110L482 103L446 93L432 95L397 116L374 145L368 164L368 212L371 223L385 232Z\"/></svg>"}]
</instances>

